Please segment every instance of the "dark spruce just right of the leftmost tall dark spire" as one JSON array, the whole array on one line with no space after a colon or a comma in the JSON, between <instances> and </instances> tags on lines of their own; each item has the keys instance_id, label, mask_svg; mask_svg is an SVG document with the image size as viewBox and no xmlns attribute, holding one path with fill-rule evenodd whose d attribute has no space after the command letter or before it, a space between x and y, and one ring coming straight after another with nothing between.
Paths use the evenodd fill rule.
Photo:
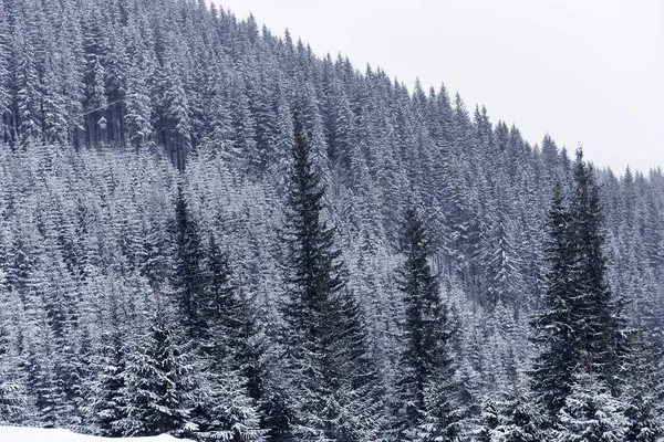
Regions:
<instances>
[{"instance_id":1,"label":"dark spruce just right of the leftmost tall dark spire","mask_svg":"<svg viewBox=\"0 0 664 442\"><path fill-rule=\"evenodd\" d=\"M196 435L201 440L261 441L266 435L259 410L264 402L264 373L252 348L255 325L247 303L231 282L228 257L214 235L207 251L207 272L201 303L206 324L201 352L208 360L201 383L207 392L198 399Z\"/></svg>"}]
</instances>

